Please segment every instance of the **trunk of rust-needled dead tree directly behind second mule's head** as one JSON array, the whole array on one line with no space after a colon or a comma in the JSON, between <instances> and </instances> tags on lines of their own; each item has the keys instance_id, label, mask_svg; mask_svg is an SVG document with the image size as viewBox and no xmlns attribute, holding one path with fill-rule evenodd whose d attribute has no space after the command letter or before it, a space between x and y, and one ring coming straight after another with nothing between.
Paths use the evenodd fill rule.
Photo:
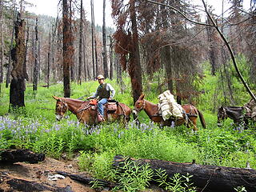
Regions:
<instances>
[{"instance_id":1,"label":"trunk of rust-needled dead tree directly behind second mule's head","mask_svg":"<svg viewBox=\"0 0 256 192\"><path fill-rule=\"evenodd\" d=\"M139 46L138 46L138 29L135 12L135 2L130 3L130 20L132 28L133 50L130 53L130 82L132 86L134 103L142 94L142 66L140 62Z\"/></svg>"}]
</instances>

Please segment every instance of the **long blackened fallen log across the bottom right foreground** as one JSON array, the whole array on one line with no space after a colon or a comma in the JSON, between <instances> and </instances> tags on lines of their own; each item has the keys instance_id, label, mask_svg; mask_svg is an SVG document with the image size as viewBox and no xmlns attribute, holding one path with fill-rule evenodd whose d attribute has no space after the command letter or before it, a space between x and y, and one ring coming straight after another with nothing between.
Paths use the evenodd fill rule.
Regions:
<instances>
[{"instance_id":1,"label":"long blackened fallen log across the bottom right foreground","mask_svg":"<svg viewBox=\"0 0 256 192\"><path fill-rule=\"evenodd\" d=\"M127 158L118 155L114 158L114 166L122 166ZM132 159L141 165L149 164L152 170L166 170L171 178L179 173L193 175L194 186L203 192L234 192L234 187L244 186L247 192L256 191L256 170L233 168L226 166L202 166L196 163L168 162L156 159Z\"/></svg>"}]
</instances>

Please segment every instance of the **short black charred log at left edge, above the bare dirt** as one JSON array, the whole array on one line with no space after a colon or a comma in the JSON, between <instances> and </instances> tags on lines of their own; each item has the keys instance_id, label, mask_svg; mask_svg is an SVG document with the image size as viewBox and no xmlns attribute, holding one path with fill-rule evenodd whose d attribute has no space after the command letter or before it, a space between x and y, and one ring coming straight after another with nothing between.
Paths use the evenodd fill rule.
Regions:
<instances>
[{"instance_id":1,"label":"short black charred log at left edge, above the bare dirt","mask_svg":"<svg viewBox=\"0 0 256 192\"><path fill-rule=\"evenodd\" d=\"M30 162L38 163L45 160L45 154L36 154L30 150L0 150L1 163Z\"/></svg>"}]
</instances>

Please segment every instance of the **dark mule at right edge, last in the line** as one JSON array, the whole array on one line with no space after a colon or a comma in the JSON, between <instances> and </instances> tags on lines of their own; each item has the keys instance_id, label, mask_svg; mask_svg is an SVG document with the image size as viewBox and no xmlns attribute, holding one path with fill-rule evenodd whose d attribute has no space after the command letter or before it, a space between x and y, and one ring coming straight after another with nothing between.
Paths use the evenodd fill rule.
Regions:
<instances>
[{"instance_id":1,"label":"dark mule at right edge, last in the line","mask_svg":"<svg viewBox=\"0 0 256 192\"><path fill-rule=\"evenodd\" d=\"M221 106L218 108L218 126L222 126L222 122L226 118L231 118L234 124L244 125L245 129L248 127L250 116L246 115L246 108L243 106Z\"/></svg>"}]
</instances>

